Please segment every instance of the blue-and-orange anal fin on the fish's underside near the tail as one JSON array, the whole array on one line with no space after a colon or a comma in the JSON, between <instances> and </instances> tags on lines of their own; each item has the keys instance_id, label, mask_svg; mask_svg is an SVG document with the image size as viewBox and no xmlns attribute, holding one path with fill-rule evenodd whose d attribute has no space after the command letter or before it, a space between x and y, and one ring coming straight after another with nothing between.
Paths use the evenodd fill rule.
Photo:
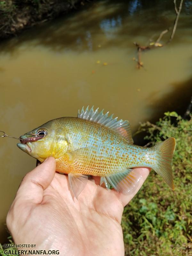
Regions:
<instances>
[{"instance_id":1,"label":"blue-and-orange anal fin on the fish's underside near the tail","mask_svg":"<svg viewBox=\"0 0 192 256\"><path fill-rule=\"evenodd\" d=\"M137 172L132 169L126 169L122 170L122 172L106 176L105 178L118 192L128 195L137 188L137 183L139 182L141 175L137 174Z\"/></svg>"}]
</instances>

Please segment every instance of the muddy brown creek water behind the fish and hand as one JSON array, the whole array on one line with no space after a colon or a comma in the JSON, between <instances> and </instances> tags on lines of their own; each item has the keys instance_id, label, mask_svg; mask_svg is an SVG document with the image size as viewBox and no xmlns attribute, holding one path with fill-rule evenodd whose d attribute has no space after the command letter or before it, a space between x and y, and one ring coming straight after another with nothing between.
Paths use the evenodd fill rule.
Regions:
<instances>
[{"instance_id":1,"label":"muddy brown creek water behind the fish and hand","mask_svg":"<svg viewBox=\"0 0 192 256\"><path fill-rule=\"evenodd\" d=\"M128 119L133 132L165 111L182 114L192 94L192 4L184 2L173 41L142 53L138 70L133 42L147 45L175 18L171 1L149 3L95 2L3 42L0 130L20 136L87 105ZM36 164L17 142L0 138L0 242L21 179Z\"/></svg>"}]
</instances>

